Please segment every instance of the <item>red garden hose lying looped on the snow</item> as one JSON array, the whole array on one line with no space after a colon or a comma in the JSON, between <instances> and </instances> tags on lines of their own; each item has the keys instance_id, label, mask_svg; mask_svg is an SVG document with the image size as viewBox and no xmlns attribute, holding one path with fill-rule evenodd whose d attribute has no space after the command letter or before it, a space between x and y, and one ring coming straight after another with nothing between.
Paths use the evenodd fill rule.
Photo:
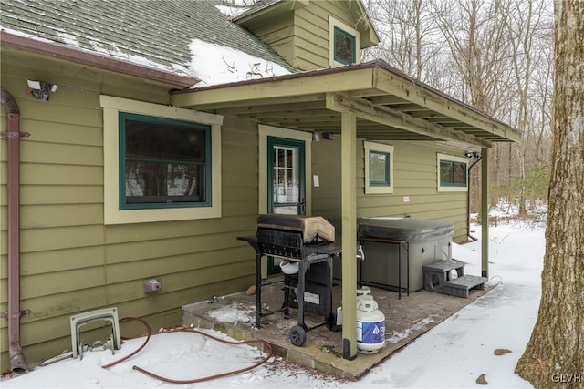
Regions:
<instances>
[{"instance_id":1,"label":"red garden hose lying looped on the snow","mask_svg":"<svg viewBox=\"0 0 584 389\"><path fill-rule=\"evenodd\" d=\"M146 343L148 343L148 341L150 340L150 337L151 337L151 328L150 328L150 325L148 325L148 322L146 322L145 320L143 320L141 318L138 318L138 317L125 317L125 318L120 319L120 322L125 322L125 321L128 321L128 320L137 320L139 322L142 322L146 326L146 329L148 330L148 334L147 334L146 340L144 341L144 343L142 343L142 345L140 346L140 348L138 350L134 351L133 353L130 353L129 355L126 355L125 357L121 358L118 361L114 361L112 363L108 363L108 364L105 364L105 365L101 366L104 369L107 369L107 368L109 368L109 367L111 367L113 365L116 365L116 364L120 363L120 362L126 361L127 359L129 359L132 356L134 356L136 353L139 353L141 351L141 349L144 348L144 346L146 345ZM201 334L203 336L206 336L208 338L211 338L211 339L213 339L213 340L215 340L217 342L227 343L227 344L234 344L234 345L238 345L238 344L251 344L251 343L261 343L261 344L264 344L268 348L269 353L261 361L259 361L258 363L255 363L255 364L253 364L251 366L247 366L247 367L244 367L242 369L234 370L234 371L231 371L231 372L225 372L225 373L221 373L221 374L214 374L214 375L209 375L209 376L202 377L202 378L194 378L194 379L191 379L191 380L174 380L172 378L162 377L161 375L153 374L153 373L151 373L151 372L149 372L149 371L147 371L145 369L142 369L139 366L132 366L132 369L137 370L137 371L139 371L139 372L141 372L143 374L150 375L152 378L156 378L158 380L161 380L161 381L164 381L164 382L167 382L167 383L171 383L171 384L196 384L196 383L201 383L203 381L210 381L210 380L214 380L216 378L221 378L221 377L226 377L226 376L229 376L229 375L234 375L234 374L240 374L240 373L247 372L249 370L255 369L255 367L259 366L260 364L266 363L272 356L274 356L274 349L272 348L272 345L270 343L267 343L266 341L262 341L262 340L251 340L251 341L240 341L240 342L225 341L224 339L217 338L217 337L215 337L215 336L213 336L213 335L211 335L209 333L203 333L201 331L197 331L197 330L193 330L193 329L177 329L177 330L171 330L169 332L175 332L175 333L179 333L179 332L184 332L184 333L199 333L199 334Z\"/></svg>"}]
</instances>

